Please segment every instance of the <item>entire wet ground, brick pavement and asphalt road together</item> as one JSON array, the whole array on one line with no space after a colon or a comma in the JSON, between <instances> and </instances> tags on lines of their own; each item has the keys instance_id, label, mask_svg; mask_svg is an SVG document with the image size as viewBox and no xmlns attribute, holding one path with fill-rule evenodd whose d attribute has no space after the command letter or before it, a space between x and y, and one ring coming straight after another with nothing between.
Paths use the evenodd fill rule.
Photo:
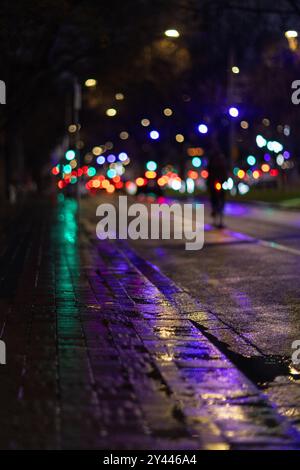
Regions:
<instances>
[{"instance_id":1,"label":"entire wet ground, brick pavement and asphalt road together","mask_svg":"<svg viewBox=\"0 0 300 470\"><path fill-rule=\"evenodd\" d=\"M98 203L5 222L0 447L300 448L300 214L228 204L187 252L97 240Z\"/></svg>"}]
</instances>

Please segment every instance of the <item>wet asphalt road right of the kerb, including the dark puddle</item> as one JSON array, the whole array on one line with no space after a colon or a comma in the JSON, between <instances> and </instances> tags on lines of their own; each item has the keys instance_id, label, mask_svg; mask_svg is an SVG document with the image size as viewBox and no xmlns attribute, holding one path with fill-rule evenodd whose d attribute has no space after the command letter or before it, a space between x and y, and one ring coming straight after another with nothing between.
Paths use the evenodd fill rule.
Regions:
<instances>
[{"instance_id":1,"label":"wet asphalt road right of the kerb, including the dark puddle","mask_svg":"<svg viewBox=\"0 0 300 470\"><path fill-rule=\"evenodd\" d=\"M300 212L228 203L224 230L205 212L200 251L178 240L131 246L201 302L210 319L195 324L299 426Z\"/></svg>"}]
</instances>

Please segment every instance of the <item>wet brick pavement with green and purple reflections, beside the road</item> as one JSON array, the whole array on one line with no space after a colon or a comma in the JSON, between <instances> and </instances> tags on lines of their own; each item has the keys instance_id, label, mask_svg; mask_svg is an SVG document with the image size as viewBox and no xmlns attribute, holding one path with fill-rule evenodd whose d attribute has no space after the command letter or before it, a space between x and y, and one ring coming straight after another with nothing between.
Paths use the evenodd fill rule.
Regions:
<instances>
[{"instance_id":1,"label":"wet brick pavement with green and purple reflections, beside the road","mask_svg":"<svg viewBox=\"0 0 300 470\"><path fill-rule=\"evenodd\" d=\"M214 317L76 204L1 241L0 447L299 449L299 433L197 327Z\"/></svg>"}]
</instances>

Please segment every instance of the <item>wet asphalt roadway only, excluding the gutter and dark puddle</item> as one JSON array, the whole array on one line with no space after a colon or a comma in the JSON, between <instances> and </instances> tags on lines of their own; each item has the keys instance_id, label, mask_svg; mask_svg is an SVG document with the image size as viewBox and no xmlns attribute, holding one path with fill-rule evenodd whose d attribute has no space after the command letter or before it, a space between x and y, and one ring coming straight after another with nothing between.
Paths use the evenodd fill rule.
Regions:
<instances>
[{"instance_id":1,"label":"wet asphalt roadway only, excluding the gutter and dark puddle","mask_svg":"<svg viewBox=\"0 0 300 470\"><path fill-rule=\"evenodd\" d=\"M209 225L208 211L206 219L199 251L178 241L132 243L237 330L245 346L230 341L234 352L289 357L300 339L300 213L230 203L225 230Z\"/></svg>"}]
</instances>

